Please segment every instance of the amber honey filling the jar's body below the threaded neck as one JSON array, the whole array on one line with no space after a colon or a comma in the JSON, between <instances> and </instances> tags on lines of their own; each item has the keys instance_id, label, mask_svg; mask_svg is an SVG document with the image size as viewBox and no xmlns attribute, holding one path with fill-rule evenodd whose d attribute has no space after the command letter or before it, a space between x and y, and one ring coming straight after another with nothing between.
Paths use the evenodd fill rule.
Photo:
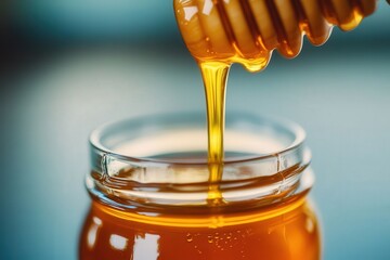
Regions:
<instances>
[{"instance_id":1,"label":"amber honey filling the jar's body below the threaded neck","mask_svg":"<svg viewBox=\"0 0 390 260\"><path fill-rule=\"evenodd\" d=\"M80 259L316 260L318 226L302 199L229 216L140 216L93 203Z\"/></svg>"}]
</instances>

